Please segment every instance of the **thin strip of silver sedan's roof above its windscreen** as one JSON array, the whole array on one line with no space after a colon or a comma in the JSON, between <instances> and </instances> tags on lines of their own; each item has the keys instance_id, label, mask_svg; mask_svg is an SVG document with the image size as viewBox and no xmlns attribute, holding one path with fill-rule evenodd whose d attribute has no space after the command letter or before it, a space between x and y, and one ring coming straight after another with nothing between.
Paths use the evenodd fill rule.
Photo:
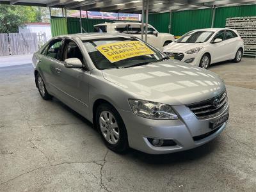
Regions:
<instances>
[{"instance_id":1,"label":"thin strip of silver sedan's roof above its windscreen","mask_svg":"<svg viewBox=\"0 0 256 192\"><path fill-rule=\"evenodd\" d=\"M95 39L95 38L114 38L114 37L131 37L132 35L122 33L77 33L70 35L60 35L54 38L80 38L81 40Z\"/></svg>"}]
</instances>

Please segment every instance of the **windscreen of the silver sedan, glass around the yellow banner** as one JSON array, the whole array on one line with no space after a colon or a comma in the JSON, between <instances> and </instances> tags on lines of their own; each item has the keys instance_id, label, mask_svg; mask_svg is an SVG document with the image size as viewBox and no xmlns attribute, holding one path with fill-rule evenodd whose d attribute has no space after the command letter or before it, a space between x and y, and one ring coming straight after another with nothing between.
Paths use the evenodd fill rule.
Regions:
<instances>
[{"instance_id":1,"label":"windscreen of the silver sedan, glass around the yellow banner","mask_svg":"<svg viewBox=\"0 0 256 192\"><path fill-rule=\"evenodd\" d=\"M147 49L152 54L145 54L125 58L118 61L109 61L108 56L104 55L104 52L100 52L98 47L102 47L104 45L113 45L113 44L124 44L124 42L135 42L138 44L143 44L144 47L147 47ZM147 43L139 40L138 38L134 37L116 37L116 38L97 38L92 40L83 40L84 47L86 48L90 58L93 61L93 64L95 67L97 67L100 70L108 69L108 68L125 68L125 67L134 67L138 65L146 65L151 62L160 61L164 59L164 54L157 51L154 47L148 45ZM116 45L118 46L118 45ZM115 47L115 46L114 46ZM132 46L131 46L132 47ZM129 47L129 48L131 48ZM105 47L106 48L106 47ZM131 48L132 49L132 48ZM103 49L104 50L104 49ZM118 55L119 53L125 52L125 54L131 54L132 52L129 52L128 49L116 49L115 51L112 51ZM133 52L134 53L134 52Z\"/></svg>"}]
</instances>

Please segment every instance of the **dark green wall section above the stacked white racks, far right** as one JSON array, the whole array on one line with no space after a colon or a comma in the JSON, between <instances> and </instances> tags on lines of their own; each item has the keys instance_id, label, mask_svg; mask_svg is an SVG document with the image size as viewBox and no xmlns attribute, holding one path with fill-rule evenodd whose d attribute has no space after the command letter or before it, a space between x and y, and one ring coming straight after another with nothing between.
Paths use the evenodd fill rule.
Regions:
<instances>
[{"instance_id":1,"label":"dark green wall section above the stacked white racks, far right","mask_svg":"<svg viewBox=\"0 0 256 192\"><path fill-rule=\"evenodd\" d=\"M225 28L228 17L256 16L256 4L216 8L214 28Z\"/></svg>"}]
</instances>

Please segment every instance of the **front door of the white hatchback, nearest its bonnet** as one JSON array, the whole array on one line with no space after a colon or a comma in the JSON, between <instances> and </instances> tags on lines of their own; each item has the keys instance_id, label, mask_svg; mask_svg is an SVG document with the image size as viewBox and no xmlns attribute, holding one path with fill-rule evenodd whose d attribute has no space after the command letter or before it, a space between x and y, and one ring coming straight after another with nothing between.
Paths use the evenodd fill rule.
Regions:
<instances>
[{"instance_id":1,"label":"front door of the white hatchback, nearest its bonnet","mask_svg":"<svg viewBox=\"0 0 256 192\"><path fill-rule=\"evenodd\" d=\"M214 43L216 38L220 38L222 42ZM227 60L228 55L228 45L227 41L225 41L225 30L219 31L211 40L211 63L216 63L220 61Z\"/></svg>"}]
</instances>

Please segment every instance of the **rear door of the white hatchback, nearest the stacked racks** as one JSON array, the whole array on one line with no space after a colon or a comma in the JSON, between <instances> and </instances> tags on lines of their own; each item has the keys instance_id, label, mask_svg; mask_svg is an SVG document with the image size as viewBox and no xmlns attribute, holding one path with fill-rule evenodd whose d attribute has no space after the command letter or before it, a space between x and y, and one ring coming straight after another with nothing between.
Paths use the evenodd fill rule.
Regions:
<instances>
[{"instance_id":1,"label":"rear door of the white hatchback, nearest the stacked racks","mask_svg":"<svg viewBox=\"0 0 256 192\"><path fill-rule=\"evenodd\" d=\"M239 44L238 42L239 38L236 35L236 33L234 33L234 31L226 30L225 40L227 41L227 50L228 50L227 60L228 59L232 60L236 56L237 45Z\"/></svg>"}]
</instances>

